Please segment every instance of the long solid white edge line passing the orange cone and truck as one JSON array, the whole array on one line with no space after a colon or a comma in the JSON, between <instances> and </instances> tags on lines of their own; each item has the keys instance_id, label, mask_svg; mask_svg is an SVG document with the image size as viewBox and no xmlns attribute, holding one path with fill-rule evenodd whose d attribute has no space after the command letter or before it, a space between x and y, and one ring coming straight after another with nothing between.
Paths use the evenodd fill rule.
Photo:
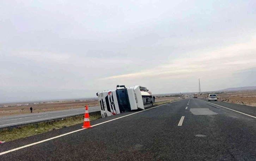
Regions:
<instances>
[{"instance_id":1,"label":"long solid white edge line passing the orange cone and truck","mask_svg":"<svg viewBox=\"0 0 256 161\"><path fill-rule=\"evenodd\" d=\"M179 101L179 100L177 100L177 101ZM173 102L176 102L176 101L173 101ZM171 103L173 103L173 102L171 102ZM163 104L163 105L166 105L166 104ZM160 106L163 106L163 105L160 105ZM156 107L159 107L159 106L156 106ZM156 107L152 107L150 109L153 109L153 108L156 108ZM143 111L147 111L147 110L150 110L150 109L146 109L146 110L143 110ZM139 111L139 112L143 112L143 111ZM132 113L132 114L136 114L136 113L139 113L139 112L135 112L135 113ZM97 126L97 125L100 125L100 124L104 124L104 123L107 123L107 122L110 122L110 121L114 121L114 120L117 120L117 119L120 119L120 118L123 118L123 117L130 116L132 114L127 114L126 116L118 117L118 118L115 118L115 119L112 119L112 120L108 120L108 121L105 121L105 122L102 122L102 123L99 123L99 124L96 124L96 125L92 125L92 126ZM85 128L85 129L87 129L87 128ZM46 141L49 141L49 140L53 140L55 138L62 137L62 136L65 136L65 135L68 135L68 134L72 134L74 132L78 132L78 131L85 130L85 129L79 129L79 130L71 131L71 132L68 132L66 134L62 134L62 135L59 135L59 136L48 138L46 140L42 140L42 141L35 142L35 143L32 143L32 144L24 145L24 146L19 147L19 148L14 148L14 149L11 149L11 150L8 150L8 151L4 151L4 152L0 153L0 155L6 154L6 153L10 153L12 151L16 151L16 150L19 150L19 149L23 149L23 148L26 148L26 147L30 147L32 145L43 143L43 142L46 142Z\"/></svg>"}]
</instances>

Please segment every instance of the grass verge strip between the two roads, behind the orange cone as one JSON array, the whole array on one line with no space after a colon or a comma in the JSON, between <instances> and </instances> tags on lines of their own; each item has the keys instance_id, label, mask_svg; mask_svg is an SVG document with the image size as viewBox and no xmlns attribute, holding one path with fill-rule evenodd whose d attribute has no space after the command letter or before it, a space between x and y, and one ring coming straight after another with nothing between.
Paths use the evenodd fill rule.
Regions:
<instances>
[{"instance_id":1,"label":"grass verge strip between the two roads, behind the orange cone","mask_svg":"<svg viewBox=\"0 0 256 161\"><path fill-rule=\"evenodd\" d=\"M100 112L90 114L90 121L101 118ZM84 115L72 116L63 119L57 119L50 122L34 123L25 126L20 126L13 129L0 130L0 141L12 141L19 138L24 138L43 132L48 132L68 126L81 124L84 122Z\"/></svg>"}]
</instances>

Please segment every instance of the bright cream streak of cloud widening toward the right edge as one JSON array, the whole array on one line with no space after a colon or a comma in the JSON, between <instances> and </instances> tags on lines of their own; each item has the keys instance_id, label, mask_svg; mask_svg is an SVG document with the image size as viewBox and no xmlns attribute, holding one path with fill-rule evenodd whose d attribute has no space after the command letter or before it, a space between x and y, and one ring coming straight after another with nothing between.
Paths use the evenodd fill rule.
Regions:
<instances>
[{"instance_id":1,"label":"bright cream streak of cloud widening toward the right edge","mask_svg":"<svg viewBox=\"0 0 256 161\"><path fill-rule=\"evenodd\" d=\"M137 79L154 76L160 78L166 75L189 75L198 72L215 72L220 70L233 73L256 66L255 44L255 39L252 39L250 42L233 44L213 51L191 51L192 58L177 58L171 60L168 64L158 65L150 70L109 76L101 80Z\"/></svg>"}]
</instances>

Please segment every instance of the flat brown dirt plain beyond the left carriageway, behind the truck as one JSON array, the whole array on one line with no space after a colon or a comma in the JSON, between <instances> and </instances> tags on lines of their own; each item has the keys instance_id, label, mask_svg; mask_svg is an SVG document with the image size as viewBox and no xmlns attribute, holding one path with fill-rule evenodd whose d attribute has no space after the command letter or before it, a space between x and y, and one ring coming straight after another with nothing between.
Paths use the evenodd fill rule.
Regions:
<instances>
[{"instance_id":1,"label":"flat brown dirt plain beyond the left carriageway, behind the truck","mask_svg":"<svg viewBox=\"0 0 256 161\"><path fill-rule=\"evenodd\" d=\"M177 98L172 97L161 97L156 98L156 100L174 100ZM13 107L0 107L0 116L10 116L16 114L30 113L30 107L32 106L33 112L47 112L47 111L58 111L58 110L68 110L83 108L85 105L88 107L99 106L98 101L77 101L77 102L56 102L56 103L45 103L36 105L26 105L26 106L13 106Z\"/></svg>"}]
</instances>

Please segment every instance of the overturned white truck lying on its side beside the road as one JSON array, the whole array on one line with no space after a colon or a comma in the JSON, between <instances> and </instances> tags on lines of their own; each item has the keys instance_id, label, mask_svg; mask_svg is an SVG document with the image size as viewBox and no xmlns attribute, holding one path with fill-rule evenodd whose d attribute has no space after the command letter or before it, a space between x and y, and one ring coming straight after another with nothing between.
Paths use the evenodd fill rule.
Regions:
<instances>
[{"instance_id":1,"label":"overturned white truck lying on its side beside the road","mask_svg":"<svg viewBox=\"0 0 256 161\"><path fill-rule=\"evenodd\" d=\"M153 103L148 89L141 86L126 88L124 85L117 85L116 90L98 92L96 95L102 117L138 109L145 110L145 107L152 106Z\"/></svg>"}]
</instances>

